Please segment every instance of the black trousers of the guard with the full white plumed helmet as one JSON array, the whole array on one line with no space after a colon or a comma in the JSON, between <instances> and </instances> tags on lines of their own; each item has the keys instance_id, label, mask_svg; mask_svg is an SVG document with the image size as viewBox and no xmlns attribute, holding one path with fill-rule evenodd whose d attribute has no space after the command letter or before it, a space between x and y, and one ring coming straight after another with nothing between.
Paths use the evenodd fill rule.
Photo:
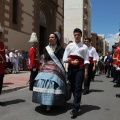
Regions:
<instances>
[{"instance_id":1,"label":"black trousers of the guard with the full white plumed helmet","mask_svg":"<svg viewBox=\"0 0 120 120\"><path fill-rule=\"evenodd\" d=\"M33 69L30 70L31 74L30 74L30 84L29 84L29 90L33 91L33 86L35 83L35 77L38 74L38 69L36 69L36 71L33 71Z\"/></svg>"}]
</instances>

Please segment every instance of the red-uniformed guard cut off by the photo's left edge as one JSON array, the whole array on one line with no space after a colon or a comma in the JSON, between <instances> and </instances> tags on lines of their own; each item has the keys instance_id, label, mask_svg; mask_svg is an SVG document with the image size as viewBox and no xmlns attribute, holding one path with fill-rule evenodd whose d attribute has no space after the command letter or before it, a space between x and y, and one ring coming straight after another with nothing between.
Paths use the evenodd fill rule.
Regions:
<instances>
[{"instance_id":1,"label":"red-uniformed guard cut off by the photo's left edge","mask_svg":"<svg viewBox=\"0 0 120 120\"><path fill-rule=\"evenodd\" d=\"M5 46L2 42L3 31L0 29L0 94L2 93L3 78L5 73ZM0 102L0 105L3 105L3 102Z\"/></svg>"}]
</instances>

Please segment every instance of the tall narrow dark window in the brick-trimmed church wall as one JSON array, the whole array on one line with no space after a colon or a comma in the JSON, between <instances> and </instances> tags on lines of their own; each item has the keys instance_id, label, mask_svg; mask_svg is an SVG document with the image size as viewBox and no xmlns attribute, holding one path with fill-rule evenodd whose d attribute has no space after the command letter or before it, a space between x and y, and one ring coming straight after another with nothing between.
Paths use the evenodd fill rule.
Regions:
<instances>
[{"instance_id":1,"label":"tall narrow dark window in the brick-trimmed church wall","mask_svg":"<svg viewBox=\"0 0 120 120\"><path fill-rule=\"evenodd\" d=\"M12 22L17 24L17 14L18 14L18 0L13 0L13 18Z\"/></svg>"}]
</instances>

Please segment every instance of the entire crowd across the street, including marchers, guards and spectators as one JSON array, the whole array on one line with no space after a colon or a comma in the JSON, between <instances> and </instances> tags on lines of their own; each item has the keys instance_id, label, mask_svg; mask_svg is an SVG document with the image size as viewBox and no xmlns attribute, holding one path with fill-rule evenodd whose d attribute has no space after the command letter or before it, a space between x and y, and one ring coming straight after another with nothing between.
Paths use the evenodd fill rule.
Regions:
<instances>
[{"instance_id":1,"label":"entire crowd across the street, including marchers, guards and spectators","mask_svg":"<svg viewBox=\"0 0 120 120\"><path fill-rule=\"evenodd\" d=\"M54 105L65 104L70 99L68 95L71 93L73 107L70 114L72 117L77 117L82 95L89 94L90 83L94 81L95 75L104 73L107 78L112 77L113 82L116 82L114 87L120 87L119 42L116 41L113 49L103 56L92 46L91 38L87 37L81 41L82 31L79 28L73 30L73 35L75 41L69 42L66 48L63 48L60 44L60 34L51 33L49 44L44 48L41 58L35 32L31 34L29 40L31 48L28 52L15 49L8 52L0 40L0 65L3 70L0 69L1 91L4 69L12 70L14 74L21 68L29 69L32 101L46 106L46 111L50 111ZM64 64L68 64L67 68ZM68 83L70 89L67 89ZM120 94L116 97L120 97Z\"/></svg>"}]
</instances>

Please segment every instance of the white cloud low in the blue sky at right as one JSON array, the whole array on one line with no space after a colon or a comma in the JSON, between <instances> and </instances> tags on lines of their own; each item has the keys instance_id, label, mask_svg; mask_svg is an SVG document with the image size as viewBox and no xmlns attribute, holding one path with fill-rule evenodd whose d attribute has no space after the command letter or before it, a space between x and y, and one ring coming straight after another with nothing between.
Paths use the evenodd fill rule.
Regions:
<instances>
[{"instance_id":1,"label":"white cloud low in the blue sky at right","mask_svg":"<svg viewBox=\"0 0 120 120\"><path fill-rule=\"evenodd\" d=\"M119 33L106 35L106 41L109 43L109 49L112 49L114 42L118 40Z\"/></svg>"}]
</instances>

